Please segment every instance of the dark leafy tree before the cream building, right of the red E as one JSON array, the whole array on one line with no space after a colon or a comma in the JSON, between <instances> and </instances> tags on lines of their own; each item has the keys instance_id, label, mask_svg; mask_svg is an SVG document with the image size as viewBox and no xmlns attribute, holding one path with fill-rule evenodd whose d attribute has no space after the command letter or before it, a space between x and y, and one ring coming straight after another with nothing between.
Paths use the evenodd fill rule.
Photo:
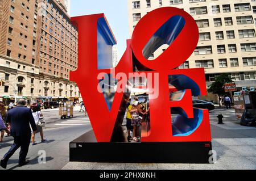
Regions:
<instances>
[{"instance_id":1,"label":"dark leafy tree before the cream building, right of the red E","mask_svg":"<svg viewBox=\"0 0 256 181\"><path fill-rule=\"evenodd\" d=\"M218 94L218 100L221 100L221 96L225 95L226 92L224 90L225 83L232 83L232 79L228 74L221 74L215 78L215 82L210 85L210 89L208 92L212 92L213 94ZM221 107L221 102L220 102Z\"/></svg>"}]
</instances>

